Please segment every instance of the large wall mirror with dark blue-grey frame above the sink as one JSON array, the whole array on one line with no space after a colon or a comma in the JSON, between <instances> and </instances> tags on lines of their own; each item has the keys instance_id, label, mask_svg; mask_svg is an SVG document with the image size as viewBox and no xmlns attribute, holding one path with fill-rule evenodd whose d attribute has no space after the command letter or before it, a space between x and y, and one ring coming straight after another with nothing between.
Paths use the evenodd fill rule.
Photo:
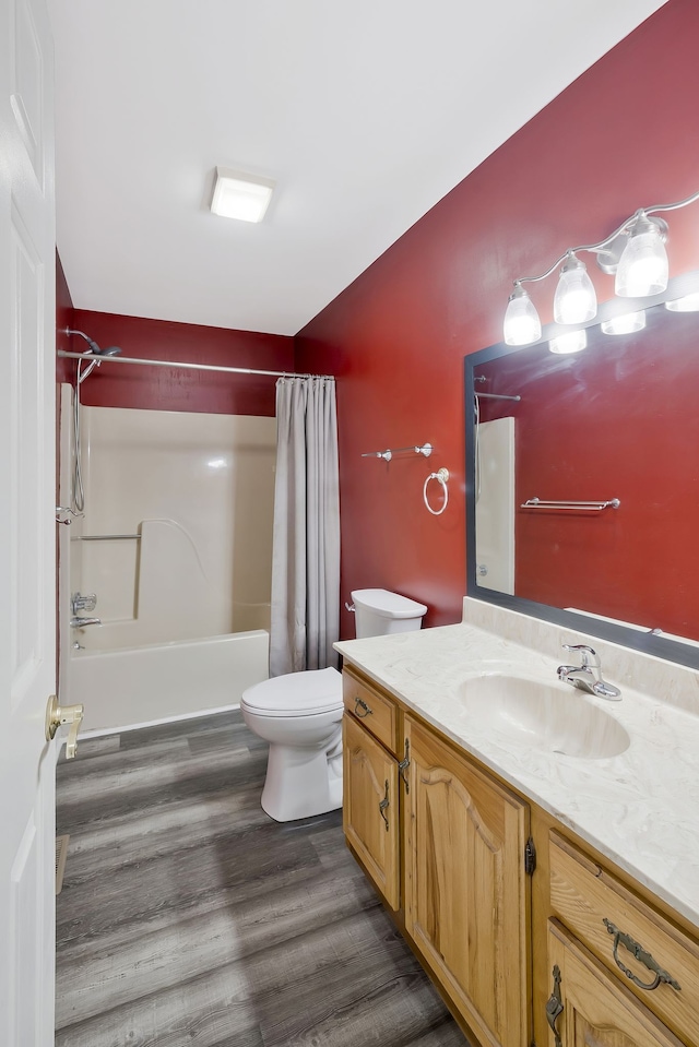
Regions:
<instances>
[{"instance_id":1,"label":"large wall mirror with dark blue-grey frame above the sink","mask_svg":"<svg viewBox=\"0 0 699 1047\"><path fill-rule=\"evenodd\" d=\"M469 596L699 668L699 312L665 306L697 290L465 357Z\"/></svg>"}]
</instances>

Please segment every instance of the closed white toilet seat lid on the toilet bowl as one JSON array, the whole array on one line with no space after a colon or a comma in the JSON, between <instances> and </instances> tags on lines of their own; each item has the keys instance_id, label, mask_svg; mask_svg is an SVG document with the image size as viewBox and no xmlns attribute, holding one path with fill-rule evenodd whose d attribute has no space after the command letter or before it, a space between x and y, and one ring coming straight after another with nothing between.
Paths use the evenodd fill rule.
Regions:
<instances>
[{"instance_id":1,"label":"closed white toilet seat lid on the toilet bowl","mask_svg":"<svg viewBox=\"0 0 699 1047\"><path fill-rule=\"evenodd\" d=\"M316 716L342 709L342 676L336 669L306 669L248 688L241 705L258 716Z\"/></svg>"}]
</instances>

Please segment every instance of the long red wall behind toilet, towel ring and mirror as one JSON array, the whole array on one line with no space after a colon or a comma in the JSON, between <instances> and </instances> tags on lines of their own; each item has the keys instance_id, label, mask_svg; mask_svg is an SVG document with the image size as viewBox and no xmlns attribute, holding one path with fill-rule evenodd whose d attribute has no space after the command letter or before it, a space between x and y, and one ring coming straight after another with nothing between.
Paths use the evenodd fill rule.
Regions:
<instances>
[{"instance_id":1,"label":"long red wall behind toilet, towel ring and mirror","mask_svg":"<svg viewBox=\"0 0 699 1047\"><path fill-rule=\"evenodd\" d=\"M514 277L602 239L639 206L699 188L697 39L699 4L670 0L297 335L298 369L340 378L343 602L378 585L426 603L429 626L460 618L463 356L500 341ZM467 121L454 128L463 133ZM699 204L668 222L671 275L699 267ZM611 278L589 267L600 299L612 298ZM544 323L554 290L549 279L534 294ZM428 462L360 456L425 440L436 448ZM668 442L670 455L682 453ZM450 503L431 516L423 481L440 466Z\"/></svg>"}]
</instances>

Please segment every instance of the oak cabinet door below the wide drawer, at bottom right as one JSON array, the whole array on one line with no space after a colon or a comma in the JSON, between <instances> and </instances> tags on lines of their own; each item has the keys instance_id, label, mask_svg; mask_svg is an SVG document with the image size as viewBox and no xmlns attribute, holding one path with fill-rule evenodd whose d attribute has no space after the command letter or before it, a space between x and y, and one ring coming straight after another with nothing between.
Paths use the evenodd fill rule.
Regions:
<instances>
[{"instance_id":1,"label":"oak cabinet door below the wide drawer, at bottom right","mask_svg":"<svg viewBox=\"0 0 699 1047\"><path fill-rule=\"evenodd\" d=\"M683 1047L556 920L548 925L548 1047Z\"/></svg>"}]
</instances>

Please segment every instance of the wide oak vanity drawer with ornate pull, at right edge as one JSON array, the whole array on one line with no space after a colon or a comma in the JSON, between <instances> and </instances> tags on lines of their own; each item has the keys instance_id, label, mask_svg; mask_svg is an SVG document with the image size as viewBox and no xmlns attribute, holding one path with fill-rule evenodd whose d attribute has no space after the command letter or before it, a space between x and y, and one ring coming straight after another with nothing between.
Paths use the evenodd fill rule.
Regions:
<instances>
[{"instance_id":1,"label":"wide oak vanity drawer with ornate pull, at right edge","mask_svg":"<svg viewBox=\"0 0 699 1047\"><path fill-rule=\"evenodd\" d=\"M556 832L549 859L554 915L673 1032L698 1044L697 942ZM664 977L654 985L660 972L678 988Z\"/></svg>"}]
</instances>

